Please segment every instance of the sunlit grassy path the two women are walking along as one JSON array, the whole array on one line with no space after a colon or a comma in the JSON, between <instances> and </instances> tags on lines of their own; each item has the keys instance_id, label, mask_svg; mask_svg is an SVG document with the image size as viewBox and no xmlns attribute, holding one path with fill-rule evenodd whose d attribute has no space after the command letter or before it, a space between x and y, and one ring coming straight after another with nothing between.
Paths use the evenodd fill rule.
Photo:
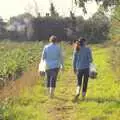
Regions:
<instances>
[{"instance_id":1,"label":"sunlit grassy path the two women are walking along","mask_svg":"<svg viewBox=\"0 0 120 120\"><path fill-rule=\"evenodd\" d=\"M44 80L26 88L7 105L5 120L120 120L120 88L109 65L109 48L93 46L98 78L89 80L85 101L72 100L76 77L71 67L72 50L66 46L65 71L59 74L54 99L46 95Z\"/></svg>"}]
</instances>

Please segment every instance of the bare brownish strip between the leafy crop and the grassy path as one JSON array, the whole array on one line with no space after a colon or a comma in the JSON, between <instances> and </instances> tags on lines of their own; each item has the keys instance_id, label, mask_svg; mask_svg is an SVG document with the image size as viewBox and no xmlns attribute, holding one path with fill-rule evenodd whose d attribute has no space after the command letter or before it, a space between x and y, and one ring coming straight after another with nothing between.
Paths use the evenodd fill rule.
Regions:
<instances>
[{"instance_id":1,"label":"bare brownish strip between the leafy crop and the grassy path","mask_svg":"<svg viewBox=\"0 0 120 120\"><path fill-rule=\"evenodd\" d=\"M38 80L37 64L30 67L29 70L23 73L17 80L10 81L5 87L0 89L0 99L17 96L26 87L35 85Z\"/></svg>"}]
</instances>

